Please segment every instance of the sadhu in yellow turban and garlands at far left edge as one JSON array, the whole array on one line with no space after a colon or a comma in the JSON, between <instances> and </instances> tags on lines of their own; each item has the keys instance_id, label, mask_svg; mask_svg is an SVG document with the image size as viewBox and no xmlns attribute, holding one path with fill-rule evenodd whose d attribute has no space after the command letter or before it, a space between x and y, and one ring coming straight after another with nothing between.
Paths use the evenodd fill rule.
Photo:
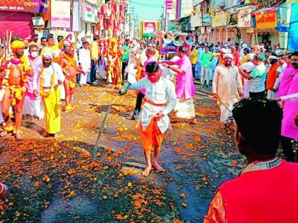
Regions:
<instances>
[{"instance_id":1,"label":"sadhu in yellow turban and garlands at far left edge","mask_svg":"<svg viewBox=\"0 0 298 223\"><path fill-rule=\"evenodd\" d=\"M26 93L27 76L33 76L32 67L24 55L25 42L11 42L11 53L2 61L0 68L1 88L5 88L1 103L6 126L4 130L14 132L16 139L21 139L22 108ZM13 127L9 108L13 105L16 123Z\"/></svg>"}]
</instances>

